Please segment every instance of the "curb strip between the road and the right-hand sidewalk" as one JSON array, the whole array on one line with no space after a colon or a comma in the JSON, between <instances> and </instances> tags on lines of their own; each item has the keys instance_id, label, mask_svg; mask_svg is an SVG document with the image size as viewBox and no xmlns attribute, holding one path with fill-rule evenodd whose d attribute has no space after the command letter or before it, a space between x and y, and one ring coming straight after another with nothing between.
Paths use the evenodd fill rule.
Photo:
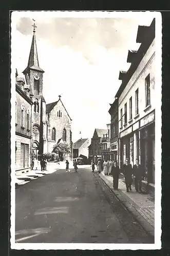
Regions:
<instances>
[{"instance_id":1,"label":"curb strip between the road and the right-hand sidewalk","mask_svg":"<svg viewBox=\"0 0 170 256\"><path fill-rule=\"evenodd\" d=\"M104 183L109 187L109 189L114 193L117 199L123 204L123 206L133 215L134 219L142 226L146 233L150 236L155 236L155 229L152 225L150 225L140 214L139 212L127 201L127 196L120 190L115 191L114 188L110 187L107 179L99 174L99 177L104 181ZM125 197L124 197L125 196ZM129 199L131 200L131 199Z\"/></svg>"}]
</instances>

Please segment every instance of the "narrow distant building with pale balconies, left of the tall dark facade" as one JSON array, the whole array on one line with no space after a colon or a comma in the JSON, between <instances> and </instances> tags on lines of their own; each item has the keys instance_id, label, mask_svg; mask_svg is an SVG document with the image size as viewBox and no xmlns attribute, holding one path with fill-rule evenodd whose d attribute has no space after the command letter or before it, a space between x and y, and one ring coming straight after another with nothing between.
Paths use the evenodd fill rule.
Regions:
<instances>
[{"instance_id":1,"label":"narrow distant building with pale balconies, left of the tall dark facade","mask_svg":"<svg viewBox=\"0 0 170 256\"><path fill-rule=\"evenodd\" d=\"M102 138L101 155L104 160L110 160L110 124L107 124L107 133Z\"/></svg>"}]
</instances>

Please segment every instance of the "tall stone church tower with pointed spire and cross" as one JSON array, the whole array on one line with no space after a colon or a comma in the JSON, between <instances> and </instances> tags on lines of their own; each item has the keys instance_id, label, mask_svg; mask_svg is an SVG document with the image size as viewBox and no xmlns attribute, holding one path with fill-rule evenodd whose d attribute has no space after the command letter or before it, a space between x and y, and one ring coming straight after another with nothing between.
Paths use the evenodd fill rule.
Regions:
<instances>
[{"instance_id":1,"label":"tall stone church tower with pointed spire and cross","mask_svg":"<svg viewBox=\"0 0 170 256\"><path fill-rule=\"evenodd\" d=\"M35 22L35 20L34 20ZM30 88L30 98L32 105L32 147L36 157L43 154L43 144L46 131L46 103L43 97L43 73L39 66L39 59L36 48L35 23L33 27L32 44L28 59L27 68L23 71L27 84Z\"/></svg>"}]
</instances>

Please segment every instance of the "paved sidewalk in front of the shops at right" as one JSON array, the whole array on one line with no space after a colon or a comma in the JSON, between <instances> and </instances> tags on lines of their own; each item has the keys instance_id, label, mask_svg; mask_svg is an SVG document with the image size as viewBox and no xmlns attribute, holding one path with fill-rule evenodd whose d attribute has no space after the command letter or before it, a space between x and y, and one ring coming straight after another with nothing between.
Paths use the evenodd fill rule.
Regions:
<instances>
[{"instance_id":1,"label":"paved sidewalk in front of the shops at right","mask_svg":"<svg viewBox=\"0 0 170 256\"><path fill-rule=\"evenodd\" d=\"M99 174L100 178L114 192L115 196L122 202L125 208L134 215L134 218L141 224L143 229L154 236L155 234L155 203L149 194L139 194L134 185L132 191L126 192L126 185L123 179L119 179L118 190L114 190L112 177Z\"/></svg>"}]
</instances>

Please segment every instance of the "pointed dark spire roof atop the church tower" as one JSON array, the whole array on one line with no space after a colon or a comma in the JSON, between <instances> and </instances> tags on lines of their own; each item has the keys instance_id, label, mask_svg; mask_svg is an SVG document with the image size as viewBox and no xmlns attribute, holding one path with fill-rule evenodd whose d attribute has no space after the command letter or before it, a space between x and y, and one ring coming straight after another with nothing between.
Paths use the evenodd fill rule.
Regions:
<instances>
[{"instance_id":1,"label":"pointed dark spire roof atop the church tower","mask_svg":"<svg viewBox=\"0 0 170 256\"><path fill-rule=\"evenodd\" d=\"M27 65L27 68L23 71L23 73L25 73L28 68L44 72L39 67L39 58L38 58L37 48L36 48L35 32L33 32L33 36L32 36L32 44L31 44L31 50L30 50L29 59L28 59L28 65Z\"/></svg>"}]
</instances>

